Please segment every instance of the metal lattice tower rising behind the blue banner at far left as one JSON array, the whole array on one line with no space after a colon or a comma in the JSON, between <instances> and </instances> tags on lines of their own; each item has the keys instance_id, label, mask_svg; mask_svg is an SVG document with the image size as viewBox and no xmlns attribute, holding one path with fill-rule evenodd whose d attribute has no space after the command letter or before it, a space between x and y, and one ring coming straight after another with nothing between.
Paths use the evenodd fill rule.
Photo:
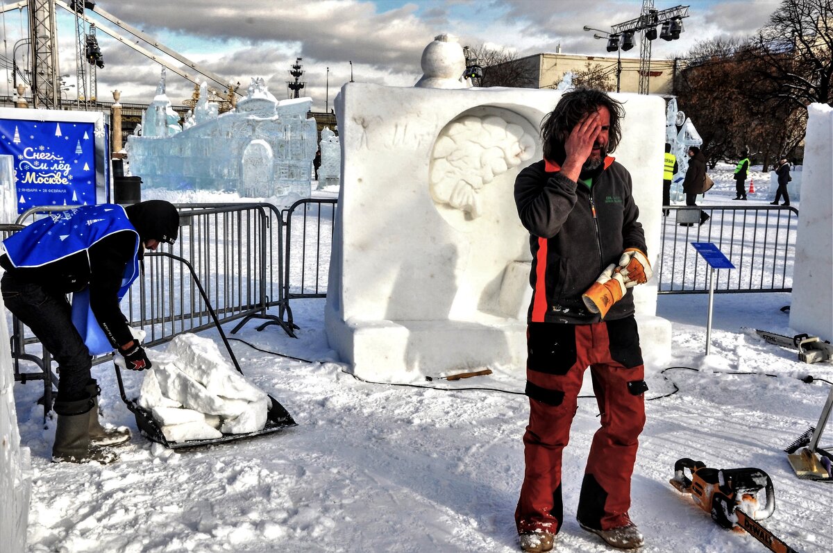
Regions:
<instances>
[{"instance_id":1,"label":"metal lattice tower rising behind the blue banner at far left","mask_svg":"<svg viewBox=\"0 0 833 553\"><path fill-rule=\"evenodd\" d=\"M28 0L28 12L32 40L32 100L34 107L53 109L61 102L55 0Z\"/></svg>"}]
</instances>

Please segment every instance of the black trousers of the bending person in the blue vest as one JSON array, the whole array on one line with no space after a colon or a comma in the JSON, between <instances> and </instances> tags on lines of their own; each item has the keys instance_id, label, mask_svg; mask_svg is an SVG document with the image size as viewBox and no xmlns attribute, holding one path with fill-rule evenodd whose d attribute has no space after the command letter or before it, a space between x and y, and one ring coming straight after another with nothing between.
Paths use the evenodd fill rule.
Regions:
<instances>
[{"instance_id":1,"label":"black trousers of the bending person in the blue vest","mask_svg":"<svg viewBox=\"0 0 833 553\"><path fill-rule=\"evenodd\" d=\"M75 326L72 307L62 292L19 281L5 273L0 281L2 300L37 336L58 365L56 401L77 401L89 396L92 357Z\"/></svg>"}]
</instances>

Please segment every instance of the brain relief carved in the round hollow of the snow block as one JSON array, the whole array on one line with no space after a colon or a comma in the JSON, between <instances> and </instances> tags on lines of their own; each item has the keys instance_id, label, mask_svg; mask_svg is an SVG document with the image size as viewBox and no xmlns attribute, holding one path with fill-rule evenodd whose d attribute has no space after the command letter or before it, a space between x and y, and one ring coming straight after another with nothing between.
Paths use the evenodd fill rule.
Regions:
<instances>
[{"instance_id":1,"label":"brain relief carved in the round hollow of the snow block","mask_svg":"<svg viewBox=\"0 0 833 553\"><path fill-rule=\"evenodd\" d=\"M502 117L466 115L447 125L431 154L431 196L438 203L481 216L481 189L532 157L536 139Z\"/></svg>"}]
</instances>

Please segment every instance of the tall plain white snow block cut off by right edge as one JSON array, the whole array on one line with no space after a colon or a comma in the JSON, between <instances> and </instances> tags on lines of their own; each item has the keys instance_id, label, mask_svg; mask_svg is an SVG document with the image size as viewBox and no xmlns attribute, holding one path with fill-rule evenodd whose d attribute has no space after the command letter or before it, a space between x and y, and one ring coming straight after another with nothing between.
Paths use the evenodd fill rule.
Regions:
<instances>
[{"instance_id":1,"label":"tall plain white snow block cut off by right edge","mask_svg":"<svg viewBox=\"0 0 833 553\"><path fill-rule=\"evenodd\" d=\"M811 104L807 116L801 188L812 201L798 217L790 328L833 340L833 108Z\"/></svg>"}]
</instances>

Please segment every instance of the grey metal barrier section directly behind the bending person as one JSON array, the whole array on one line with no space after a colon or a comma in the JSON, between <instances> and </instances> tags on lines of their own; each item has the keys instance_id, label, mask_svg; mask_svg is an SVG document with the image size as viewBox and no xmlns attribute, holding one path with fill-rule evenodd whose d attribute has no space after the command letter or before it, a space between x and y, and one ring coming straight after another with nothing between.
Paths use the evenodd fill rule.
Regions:
<instances>
[{"instance_id":1,"label":"grey metal barrier section directly behind the bending person","mask_svg":"<svg viewBox=\"0 0 833 553\"><path fill-rule=\"evenodd\" d=\"M22 223L48 212L72 208L37 207L18 217L16 225L2 225L5 238ZM142 275L122 301L122 311L131 326L147 331L147 346L157 346L177 334L214 326L199 286L206 291L221 322L242 319L235 331L252 318L277 320L267 308L279 304L283 279L283 222L276 207L267 203L178 204L180 231L169 249L191 265L170 256L147 252ZM5 315L3 315L5 316ZM51 395L51 358L28 353L37 338L12 318L12 356L17 381L43 380L47 404ZM111 356L99 356L94 363ZM19 361L32 361L39 372L24 372Z\"/></svg>"}]
</instances>

